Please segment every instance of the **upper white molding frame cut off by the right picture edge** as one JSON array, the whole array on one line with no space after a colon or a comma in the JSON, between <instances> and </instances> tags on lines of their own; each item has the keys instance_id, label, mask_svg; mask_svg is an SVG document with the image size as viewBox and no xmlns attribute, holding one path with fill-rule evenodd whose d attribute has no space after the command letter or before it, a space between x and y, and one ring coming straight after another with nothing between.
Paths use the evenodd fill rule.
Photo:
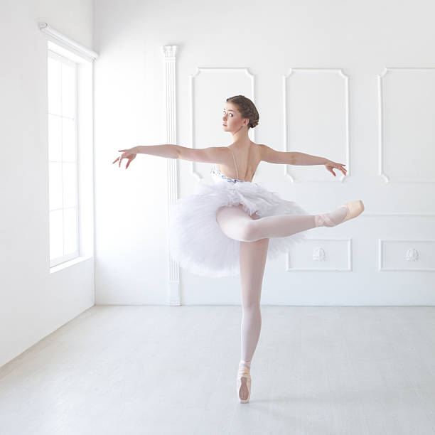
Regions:
<instances>
[{"instance_id":1,"label":"upper white molding frame cut off by the right picture edge","mask_svg":"<svg viewBox=\"0 0 435 435\"><path fill-rule=\"evenodd\" d=\"M378 144L379 144L379 176L381 176L385 183L435 183L435 179L429 179L429 178L421 178L421 179L406 179L406 178L399 178L392 180L390 176L387 175L384 171L384 160L385 160L385 150L384 150L384 119L385 119L385 110L384 110L384 98L382 93L382 79L389 73L390 71L394 70L417 70L417 71L423 71L423 70L435 70L435 68L427 67L427 68L390 68L390 67L384 67L384 70L382 73L377 75L377 94L378 94L378 124L379 124L379 134L378 134Z\"/></svg>"}]
</instances>

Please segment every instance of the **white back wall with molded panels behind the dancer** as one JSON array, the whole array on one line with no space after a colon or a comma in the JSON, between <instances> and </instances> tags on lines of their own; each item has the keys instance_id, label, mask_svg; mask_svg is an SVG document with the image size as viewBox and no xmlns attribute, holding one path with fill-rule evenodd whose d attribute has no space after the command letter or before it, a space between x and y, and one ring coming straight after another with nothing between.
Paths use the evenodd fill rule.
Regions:
<instances>
[{"instance_id":1,"label":"white back wall with molded panels behind the dancer","mask_svg":"<svg viewBox=\"0 0 435 435\"><path fill-rule=\"evenodd\" d=\"M282 167L261 163L259 181L313 213L333 210L349 200L364 200L366 210L358 220L333 229L311 230L310 237L326 240L301 247L290 261L283 255L282 259L268 262L263 304L434 304L430 272L435 268L434 256L431 257L435 239L434 184L415 182L419 178L417 166L431 170L428 162L434 161L433 146L426 147L421 155L421 144L427 139L433 145L434 136L426 129L426 136L419 136L413 143L392 140L394 134L412 137L417 131L415 126L397 122L397 114L387 111L383 157L387 172L395 171L397 175L409 171L410 179L405 183L385 183L378 171L377 82L385 67L434 68L434 12L429 0L400 4L393 0L95 0L94 46L100 53L96 65L95 125L97 304L167 302L166 159L139 155L127 171L124 167L114 168L111 162L119 155L118 149L164 143L161 47L169 44L178 45L178 144L191 145L190 75L205 67L249 68L255 77L255 102L260 113L255 132L257 143L345 162L349 171L348 178L340 182L340 173L332 178L323 166L298 166L290 168L296 180L292 183ZM297 122L289 114L284 119L283 76L289 74L290 68L315 68L320 73L313 82L318 86L318 96L310 95L307 103L312 111L306 110L301 100L304 92L308 95L312 90L309 73L295 73L287 82L293 86L287 108L299 115ZM323 68L341 70L343 75L323 74ZM397 77L392 72L385 76L389 92ZM387 104L412 95L412 87L419 86L420 76L415 71L409 77L402 88L403 95L400 86L395 87L394 93L387 95ZM201 75L198 83L200 78ZM201 118L208 119L208 124L195 119L197 137L201 137L195 146L230 144L230 135L223 136L219 131L225 98L233 94L231 80L229 73L217 75L216 86L225 89L227 82L228 92L222 92L222 100L213 100L208 107L195 107L209 114ZM330 85L337 86L337 93L328 101L325 97ZM429 81L429 87L428 91L432 91L433 82ZM211 87L208 90L213 94ZM318 111L316 101L326 104L323 112ZM433 112L430 104L426 102L422 112ZM331 131L322 118L328 112L338 115ZM348 115L349 141L343 134L343 114ZM284 122L291 127L288 144L283 143ZM335 141L335 136L340 140ZM407 157L413 153L420 157L412 159L407 167ZM178 165L181 196L193 193L198 181L190 162L178 161ZM208 171L209 165L198 165L198 172L206 180L210 180ZM433 178L433 172L425 176ZM336 243L334 238L340 241ZM399 270L379 270L380 239L411 240L407 246L399 247L397 257L394 252L387 252L388 262ZM331 253L332 267L328 262L313 261L317 245L326 249L327 257ZM387 249L390 247L394 245ZM409 247L419 249L419 262L404 260ZM429 272L407 270L419 266ZM326 271L315 270L318 267L325 267ZM345 270L335 271L335 267ZM238 284L237 277L208 279L181 270L182 303L238 304Z\"/></svg>"}]
</instances>

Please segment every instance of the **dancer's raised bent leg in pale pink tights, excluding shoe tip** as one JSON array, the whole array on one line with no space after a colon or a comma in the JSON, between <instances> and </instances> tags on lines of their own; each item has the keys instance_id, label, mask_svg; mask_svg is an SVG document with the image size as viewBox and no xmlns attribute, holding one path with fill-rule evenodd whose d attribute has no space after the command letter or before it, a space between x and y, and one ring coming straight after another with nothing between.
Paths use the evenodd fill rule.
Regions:
<instances>
[{"instance_id":1,"label":"dancer's raised bent leg in pale pink tights, excluding shoe tip","mask_svg":"<svg viewBox=\"0 0 435 435\"><path fill-rule=\"evenodd\" d=\"M347 209L341 206L323 215L276 215L253 220L240 205L228 205L218 209L216 220L228 237L254 242L267 237L286 237L314 227L338 225L346 214Z\"/></svg>"}]
</instances>

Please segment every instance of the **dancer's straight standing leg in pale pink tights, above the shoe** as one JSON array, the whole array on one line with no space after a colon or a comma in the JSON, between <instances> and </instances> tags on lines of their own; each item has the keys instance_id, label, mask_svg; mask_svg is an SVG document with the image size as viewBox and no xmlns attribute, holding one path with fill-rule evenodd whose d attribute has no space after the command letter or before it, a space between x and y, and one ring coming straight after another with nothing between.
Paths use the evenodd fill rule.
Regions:
<instances>
[{"instance_id":1,"label":"dancer's straight standing leg in pale pink tights, above the shoe","mask_svg":"<svg viewBox=\"0 0 435 435\"><path fill-rule=\"evenodd\" d=\"M269 239L240 242L240 285L242 287L242 326L240 364L251 367L257 348L262 314L260 298Z\"/></svg>"}]
</instances>

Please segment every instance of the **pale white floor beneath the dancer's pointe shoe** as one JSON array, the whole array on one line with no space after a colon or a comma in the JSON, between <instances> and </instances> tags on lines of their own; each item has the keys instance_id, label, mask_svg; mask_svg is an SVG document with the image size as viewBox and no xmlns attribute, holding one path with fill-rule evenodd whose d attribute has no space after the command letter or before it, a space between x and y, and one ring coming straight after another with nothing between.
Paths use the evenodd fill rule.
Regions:
<instances>
[{"instance_id":1,"label":"pale white floor beneath the dancer's pointe shoe","mask_svg":"<svg viewBox=\"0 0 435 435\"><path fill-rule=\"evenodd\" d=\"M0 368L0 433L435 434L435 307L95 306Z\"/></svg>"}]
</instances>

